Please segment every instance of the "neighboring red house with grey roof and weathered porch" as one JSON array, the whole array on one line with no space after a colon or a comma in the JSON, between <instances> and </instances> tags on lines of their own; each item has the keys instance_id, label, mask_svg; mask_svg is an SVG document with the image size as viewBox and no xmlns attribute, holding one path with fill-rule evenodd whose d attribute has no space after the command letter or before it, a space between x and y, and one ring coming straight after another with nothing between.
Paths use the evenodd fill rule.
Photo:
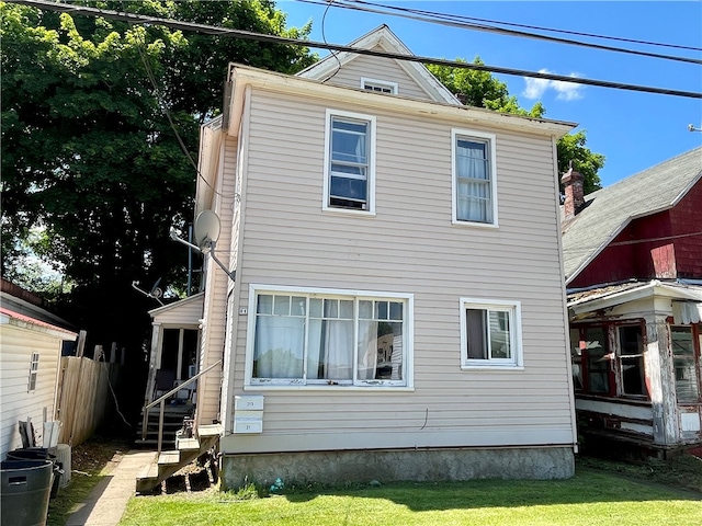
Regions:
<instances>
[{"instance_id":1,"label":"neighboring red house with grey roof and weathered porch","mask_svg":"<svg viewBox=\"0 0 702 526\"><path fill-rule=\"evenodd\" d=\"M576 410L586 436L702 441L702 148L590 195L563 178Z\"/></svg>"}]
</instances>

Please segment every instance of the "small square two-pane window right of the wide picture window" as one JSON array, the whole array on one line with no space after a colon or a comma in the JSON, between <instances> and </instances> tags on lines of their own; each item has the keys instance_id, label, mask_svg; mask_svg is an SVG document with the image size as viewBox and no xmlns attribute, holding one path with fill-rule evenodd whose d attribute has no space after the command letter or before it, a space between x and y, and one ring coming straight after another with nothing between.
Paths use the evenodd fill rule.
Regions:
<instances>
[{"instance_id":1,"label":"small square two-pane window right of the wide picture window","mask_svg":"<svg viewBox=\"0 0 702 526\"><path fill-rule=\"evenodd\" d=\"M461 298L461 365L521 368L519 301Z\"/></svg>"}]
</instances>

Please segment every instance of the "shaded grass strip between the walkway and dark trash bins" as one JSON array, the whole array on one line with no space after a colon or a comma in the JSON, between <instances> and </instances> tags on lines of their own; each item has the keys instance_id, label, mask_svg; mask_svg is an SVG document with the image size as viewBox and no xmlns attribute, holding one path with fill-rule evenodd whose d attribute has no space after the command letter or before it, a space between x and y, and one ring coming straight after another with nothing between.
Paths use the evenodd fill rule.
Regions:
<instances>
[{"instance_id":1,"label":"shaded grass strip between the walkway and dark trash bins","mask_svg":"<svg viewBox=\"0 0 702 526\"><path fill-rule=\"evenodd\" d=\"M64 526L77 512L92 489L114 469L115 456L125 451L124 439L94 436L71 450L71 477L67 487L60 488L48 503L47 526Z\"/></svg>"}]
</instances>

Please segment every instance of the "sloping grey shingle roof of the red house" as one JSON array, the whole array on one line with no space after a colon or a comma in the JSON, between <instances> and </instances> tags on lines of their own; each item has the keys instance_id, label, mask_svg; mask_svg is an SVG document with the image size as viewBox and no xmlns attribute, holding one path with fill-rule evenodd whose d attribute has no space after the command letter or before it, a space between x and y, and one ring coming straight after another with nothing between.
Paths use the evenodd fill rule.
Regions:
<instances>
[{"instance_id":1,"label":"sloping grey shingle roof of the red house","mask_svg":"<svg viewBox=\"0 0 702 526\"><path fill-rule=\"evenodd\" d=\"M672 208L702 178L702 147L585 196L564 222L566 283L573 281L634 219Z\"/></svg>"}]
</instances>

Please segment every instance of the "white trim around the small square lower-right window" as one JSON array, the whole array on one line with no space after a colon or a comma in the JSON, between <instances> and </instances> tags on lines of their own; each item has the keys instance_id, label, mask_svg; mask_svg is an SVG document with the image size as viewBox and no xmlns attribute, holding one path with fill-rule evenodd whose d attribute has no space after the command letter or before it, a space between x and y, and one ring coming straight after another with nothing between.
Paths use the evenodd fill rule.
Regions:
<instances>
[{"instance_id":1,"label":"white trim around the small square lower-right window","mask_svg":"<svg viewBox=\"0 0 702 526\"><path fill-rule=\"evenodd\" d=\"M521 301L508 301L502 299L461 298L461 368L464 370L496 369L496 370L523 370L524 361L522 352L522 307ZM512 358L510 359L471 359L468 358L468 334L465 320L466 309L499 309L510 313L510 346Z\"/></svg>"}]
</instances>

